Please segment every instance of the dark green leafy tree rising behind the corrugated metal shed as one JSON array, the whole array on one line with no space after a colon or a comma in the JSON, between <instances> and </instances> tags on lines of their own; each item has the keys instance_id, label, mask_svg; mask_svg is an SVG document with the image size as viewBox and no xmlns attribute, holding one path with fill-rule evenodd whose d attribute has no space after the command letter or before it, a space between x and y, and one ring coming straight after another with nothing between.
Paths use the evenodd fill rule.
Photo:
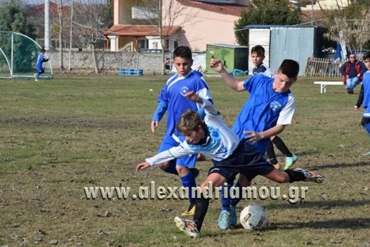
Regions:
<instances>
[{"instance_id":1,"label":"dark green leafy tree rising behind the corrugated metal shed","mask_svg":"<svg viewBox=\"0 0 370 247\"><path fill-rule=\"evenodd\" d=\"M300 8L289 0L253 0L249 1L248 12L244 9L240 18L234 22L235 37L240 45L248 44L246 30L243 26L251 24L294 25L301 23Z\"/></svg>"}]
</instances>

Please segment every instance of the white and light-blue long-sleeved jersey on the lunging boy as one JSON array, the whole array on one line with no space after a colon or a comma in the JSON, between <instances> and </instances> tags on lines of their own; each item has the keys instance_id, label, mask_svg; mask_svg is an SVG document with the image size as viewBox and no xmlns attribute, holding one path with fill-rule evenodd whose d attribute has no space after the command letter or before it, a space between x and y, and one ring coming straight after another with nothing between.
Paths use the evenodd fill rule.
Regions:
<instances>
[{"instance_id":1,"label":"white and light-blue long-sleeved jersey on the lunging boy","mask_svg":"<svg viewBox=\"0 0 370 247\"><path fill-rule=\"evenodd\" d=\"M204 107L206 114L204 123L207 125L209 132L209 135L206 136L206 142L201 145L192 145L183 141L177 147L172 147L151 158L145 159L147 163L152 166L191 154L202 154L215 161L220 161L232 154L240 142L238 136L226 126L219 112L217 112L209 100L202 98L202 101L203 104L200 106Z\"/></svg>"}]
</instances>

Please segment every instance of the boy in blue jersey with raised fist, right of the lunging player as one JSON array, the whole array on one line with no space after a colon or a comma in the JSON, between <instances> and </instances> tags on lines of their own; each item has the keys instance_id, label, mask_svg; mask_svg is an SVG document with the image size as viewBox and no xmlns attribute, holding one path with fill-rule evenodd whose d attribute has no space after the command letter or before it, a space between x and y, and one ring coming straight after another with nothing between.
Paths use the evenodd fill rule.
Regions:
<instances>
[{"instance_id":1,"label":"boy in blue jersey with raised fist, right of the lunging player","mask_svg":"<svg viewBox=\"0 0 370 247\"><path fill-rule=\"evenodd\" d=\"M295 109L295 102L289 88L296 80L299 64L296 61L285 59L269 78L259 73L245 81L238 81L224 70L220 60L210 59L209 66L220 73L224 81L235 91L248 91L249 98L239 112L232 131L240 140L249 141L261 155L264 155L271 136L281 133L285 126L291 123ZM250 185L253 176L245 177L240 174L236 188ZM227 181L227 190L231 188L234 178ZM218 218L218 227L227 229L237 222L235 207L238 199L225 198L221 190L221 212Z\"/></svg>"}]
</instances>

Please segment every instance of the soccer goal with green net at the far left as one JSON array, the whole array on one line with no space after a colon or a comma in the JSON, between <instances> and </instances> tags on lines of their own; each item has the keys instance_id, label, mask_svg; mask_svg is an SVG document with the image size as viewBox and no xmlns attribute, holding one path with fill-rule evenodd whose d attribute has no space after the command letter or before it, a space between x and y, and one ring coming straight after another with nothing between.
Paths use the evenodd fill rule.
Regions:
<instances>
[{"instance_id":1,"label":"soccer goal with green net at the far left","mask_svg":"<svg viewBox=\"0 0 370 247\"><path fill-rule=\"evenodd\" d=\"M37 72L36 60L41 46L30 37L0 31L0 78L33 78ZM41 78L52 78L50 62L43 63Z\"/></svg>"}]
</instances>

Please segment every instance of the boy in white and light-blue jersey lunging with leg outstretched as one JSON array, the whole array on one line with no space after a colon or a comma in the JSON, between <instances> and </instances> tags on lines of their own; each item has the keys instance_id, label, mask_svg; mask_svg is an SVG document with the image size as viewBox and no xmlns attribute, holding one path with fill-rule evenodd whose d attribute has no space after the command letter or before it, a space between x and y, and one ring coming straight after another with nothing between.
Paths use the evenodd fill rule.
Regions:
<instances>
[{"instance_id":1,"label":"boy in white and light-blue jersey lunging with leg outstretched","mask_svg":"<svg viewBox=\"0 0 370 247\"><path fill-rule=\"evenodd\" d=\"M300 168L287 171L274 169L257 149L246 140L239 140L239 137L222 121L219 112L210 101L199 97L194 92L189 92L184 96L204 107L206 114L204 122L198 113L186 110L176 125L177 130L185 136L185 141L177 147L172 147L146 159L145 162L136 166L136 171L189 154L200 153L212 159L214 166L209 169L207 179L200 186L200 198L196 199L193 221L183 220L179 217L174 218L177 228L187 236L200 237L199 232L209 204L208 197L204 197L202 191L209 182L213 190L235 177L237 173L253 178L262 175L277 183L323 182L321 175L314 171Z\"/></svg>"}]
</instances>

